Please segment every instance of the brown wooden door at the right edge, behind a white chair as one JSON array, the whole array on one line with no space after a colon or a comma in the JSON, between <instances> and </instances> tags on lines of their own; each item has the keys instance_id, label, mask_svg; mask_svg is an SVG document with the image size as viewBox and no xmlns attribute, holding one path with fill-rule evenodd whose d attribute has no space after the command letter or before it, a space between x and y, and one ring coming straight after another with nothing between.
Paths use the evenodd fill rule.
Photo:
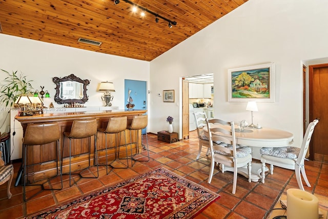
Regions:
<instances>
[{"instance_id":1,"label":"brown wooden door at the right edge, behind a white chair","mask_svg":"<svg viewBox=\"0 0 328 219\"><path fill-rule=\"evenodd\" d=\"M309 119L319 118L311 141L310 159L328 162L328 64L309 66Z\"/></svg>"}]
</instances>

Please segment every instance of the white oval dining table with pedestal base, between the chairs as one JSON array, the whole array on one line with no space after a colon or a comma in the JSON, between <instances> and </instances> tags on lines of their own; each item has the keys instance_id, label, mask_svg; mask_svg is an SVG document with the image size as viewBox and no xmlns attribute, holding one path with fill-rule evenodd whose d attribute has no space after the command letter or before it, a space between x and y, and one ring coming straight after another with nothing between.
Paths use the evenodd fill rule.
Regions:
<instances>
[{"instance_id":1,"label":"white oval dining table with pedestal base, between the chairs","mask_svg":"<svg viewBox=\"0 0 328 219\"><path fill-rule=\"evenodd\" d=\"M213 124L210 124L213 125ZM215 127L217 125L213 125ZM219 125L222 127L221 125ZM227 126L229 129L230 126ZM207 132L207 127L203 127L203 131ZM235 129L236 135L236 144L252 147L284 147L293 144L294 135L291 132L280 130L280 129L271 129L271 128L261 128L253 129L245 127L243 131ZM253 182L258 182L261 177L261 167L260 163L252 162L252 176L251 180ZM268 171L268 167L265 168L265 171ZM224 167L224 171L234 171L231 167ZM238 168L238 173L248 177L247 166Z\"/></svg>"}]
</instances>

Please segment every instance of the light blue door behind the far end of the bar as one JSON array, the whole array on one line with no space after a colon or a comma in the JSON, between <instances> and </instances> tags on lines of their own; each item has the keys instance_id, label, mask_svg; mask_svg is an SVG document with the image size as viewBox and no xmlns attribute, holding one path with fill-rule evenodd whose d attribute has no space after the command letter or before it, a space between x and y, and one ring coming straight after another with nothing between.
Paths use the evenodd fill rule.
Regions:
<instances>
[{"instance_id":1,"label":"light blue door behind the far end of the bar","mask_svg":"<svg viewBox=\"0 0 328 219\"><path fill-rule=\"evenodd\" d=\"M134 109L147 110L147 82L136 80L124 80L124 99L128 103L128 97L132 98ZM146 128L142 129L142 134L146 134Z\"/></svg>"}]
</instances>

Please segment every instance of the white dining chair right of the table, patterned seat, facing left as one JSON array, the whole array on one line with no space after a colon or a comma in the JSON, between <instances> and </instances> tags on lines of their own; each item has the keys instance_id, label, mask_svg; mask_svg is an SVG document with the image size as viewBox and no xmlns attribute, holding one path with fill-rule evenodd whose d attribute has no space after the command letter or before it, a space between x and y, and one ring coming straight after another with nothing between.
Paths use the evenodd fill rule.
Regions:
<instances>
[{"instance_id":1,"label":"white dining chair right of the table, patterned seat, facing left","mask_svg":"<svg viewBox=\"0 0 328 219\"><path fill-rule=\"evenodd\" d=\"M262 163L262 183L264 183L265 178L265 164L270 164L270 173L273 174L273 166L278 166L290 170L295 170L296 180L298 187L301 190L304 190L301 173L303 179L306 183L306 186L311 187L308 177L306 177L304 169L304 160L306 152L309 149L311 136L314 131L314 127L319 121L314 120L311 122L306 129L306 132L303 137L303 142L300 148L298 147L278 147L278 148L261 148L261 163Z\"/></svg>"}]
</instances>

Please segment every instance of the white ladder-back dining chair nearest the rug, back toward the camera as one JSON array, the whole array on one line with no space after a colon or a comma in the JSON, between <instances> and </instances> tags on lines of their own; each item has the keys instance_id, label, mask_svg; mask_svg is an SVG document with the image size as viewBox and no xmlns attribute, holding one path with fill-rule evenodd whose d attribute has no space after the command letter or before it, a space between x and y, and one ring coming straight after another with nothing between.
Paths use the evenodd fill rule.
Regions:
<instances>
[{"instance_id":1,"label":"white ladder-back dining chair nearest the rug, back toward the camera","mask_svg":"<svg viewBox=\"0 0 328 219\"><path fill-rule=\"evenodd\" d=\"M211 128L211 124L221 124L223 126L230 126L231 129L225 129L224 127ZM204 132L209 138L210 154L211 154L211 170L208 183L211 183L215 164L221 164L221 171L224 172L224 165L233 167L234 178L232 193L236 193L237 187L237 175L238 168L248 167L248 181L251 182L251 170L252 170L252 155L250 147L242 147L236 145L235 125L234 122L226 122L218 119L209 120L206 119L206 125L208 132ZM213 125L212 125L213 127ZM220 142L218 145L214 145L213 141Z\"/></svg>"}]
</instances>

